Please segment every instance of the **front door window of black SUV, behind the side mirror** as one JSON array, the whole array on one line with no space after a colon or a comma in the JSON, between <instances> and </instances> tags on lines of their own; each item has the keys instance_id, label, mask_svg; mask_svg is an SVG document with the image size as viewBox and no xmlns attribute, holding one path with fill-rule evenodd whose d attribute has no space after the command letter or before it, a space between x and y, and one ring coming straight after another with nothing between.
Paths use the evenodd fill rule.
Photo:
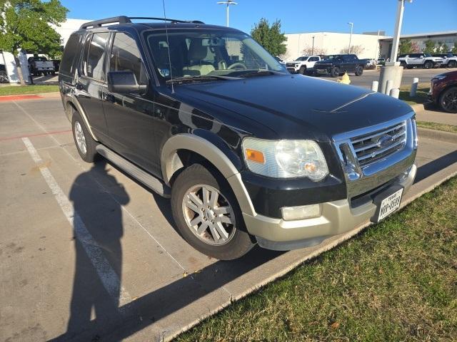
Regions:
<instances>
[{"instance_id":1,"label":"front door window of black SUV, behind the side mirror","mask_svg":"<svg viewBox=\"0 0 457 342\"><path fill-rule=\"evenodd\" d=\"M109 61L109 71L131 71L140 84L146 83L141 55L136 41L126 33L116 33Z\"/></svg>"}]
</instances>

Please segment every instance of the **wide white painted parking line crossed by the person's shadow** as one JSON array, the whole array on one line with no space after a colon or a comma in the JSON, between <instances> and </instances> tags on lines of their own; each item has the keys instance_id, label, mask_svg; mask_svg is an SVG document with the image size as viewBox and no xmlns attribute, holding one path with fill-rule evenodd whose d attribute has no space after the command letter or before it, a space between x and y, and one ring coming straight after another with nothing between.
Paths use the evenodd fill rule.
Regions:
<instances>
[{"instance_id":1,"label":"wide white painted parking line crossed by the person's shadow","mask_svg":"<svg viewBox=\"0 0 457 342\"><path fill-rule=\"evenodd\" d=\"M49 168L42 165L43 160L29 138L22 138L22 141L24 142L24 145L26 145L34 162L39 165L41 175L43 175L44 180L51 189L51 192L54 197L56 197L56 201L59 203L66 219L68 219L70 224L74 227L76 239L78 239L84 247L84 250L94 265L94 268L96 269L96 272L99 275L101 283L104 285L106 291L110 294L114 301L116 301L119 297L119 306L128 304L131 301L131 297L126 289L121 286L119 276L116 274L114 269L112 269L108 260L104 257L99 244L96 243L94 237L92 237L89 233L79 214L74 211L73 205L71 205L68 197L66 197L64 192L61 190L61 187L57 184L54 176L51 174L51 171L49 171Z\"/></svg>"}]
</instances>

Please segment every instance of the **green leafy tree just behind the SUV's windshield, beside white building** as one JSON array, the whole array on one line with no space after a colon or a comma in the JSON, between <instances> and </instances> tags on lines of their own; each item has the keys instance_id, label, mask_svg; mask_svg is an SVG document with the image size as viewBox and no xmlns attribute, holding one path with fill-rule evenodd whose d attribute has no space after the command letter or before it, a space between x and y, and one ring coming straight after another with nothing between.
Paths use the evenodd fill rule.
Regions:
<instances>
[{"instance_id":1,"label":"green leafy tree just behind the SUV's windshield, beside white building","mask_svg":"<svg viewBox=\"0 0 457 342\"><path fill-rule=\"evenodd\" d=\"M265 18L260 19L258 24L254 24L251 36L273 56L283 55L287 51L284 43L287 38L281 33L281 21L278 19L271 26Z\"/></svg>"}]
</instances>

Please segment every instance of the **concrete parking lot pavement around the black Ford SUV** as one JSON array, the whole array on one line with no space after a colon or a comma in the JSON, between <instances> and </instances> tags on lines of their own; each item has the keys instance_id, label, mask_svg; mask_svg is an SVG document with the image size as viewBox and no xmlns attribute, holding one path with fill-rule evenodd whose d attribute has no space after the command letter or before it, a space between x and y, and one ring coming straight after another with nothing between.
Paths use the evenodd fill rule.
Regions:
<instances>
[{"instance_id":1,"label":"concrete parking lot pavement around the black Ford SUV","mask_svg":"<svg viewBox=\"0 0 457 342\"><path fill-rule=\"evenodd\" d=\"M176 233L168 200L79 159L56 95L0 102L0 123L1 341L168 339L360 230L209 259ZM457 172L456 147L421 139L406 202Z\"/></svg>"}]
</instances>

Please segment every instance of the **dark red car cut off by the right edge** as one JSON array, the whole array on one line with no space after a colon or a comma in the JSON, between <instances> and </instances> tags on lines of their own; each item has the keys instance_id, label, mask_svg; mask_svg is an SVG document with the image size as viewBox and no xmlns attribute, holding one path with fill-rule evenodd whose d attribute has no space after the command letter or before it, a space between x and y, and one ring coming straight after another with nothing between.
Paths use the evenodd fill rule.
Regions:
<instances>
[{"instance_id":1,"label":"dark red car cut off by the right edge","mask_svg":"<svg viewBox=\"0 0 457 342\"><path fill-rule=\"evenodd\" d=\"M433 77L428 99L448 113L457 113L457 71Z\"/></svg>"}]
</instances>

